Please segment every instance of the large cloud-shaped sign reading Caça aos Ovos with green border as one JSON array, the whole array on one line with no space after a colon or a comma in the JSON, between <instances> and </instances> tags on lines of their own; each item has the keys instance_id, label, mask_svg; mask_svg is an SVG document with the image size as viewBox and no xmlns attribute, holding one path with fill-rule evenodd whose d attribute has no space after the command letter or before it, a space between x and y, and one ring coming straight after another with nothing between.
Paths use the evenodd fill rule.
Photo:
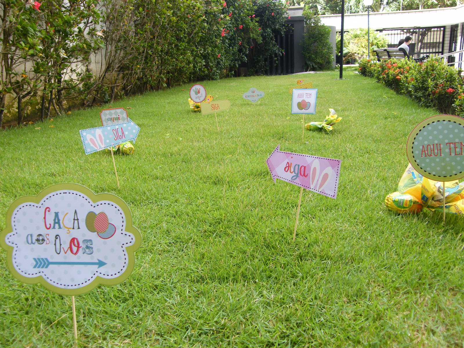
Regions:
<instances>
[{"instance_id":1,"label":"large cloud-shaped sign reading Ca\u00e7a aos Ovos with green border","mask_svg":"<svg viewBox=\"0 0 464 348\"><path fill-rule=\"evenodd\" d=\"M0 244L21 282L79 295L127 279L141 235L119 197L57 184L13 202Z\"/></svg>"}]
</instances>

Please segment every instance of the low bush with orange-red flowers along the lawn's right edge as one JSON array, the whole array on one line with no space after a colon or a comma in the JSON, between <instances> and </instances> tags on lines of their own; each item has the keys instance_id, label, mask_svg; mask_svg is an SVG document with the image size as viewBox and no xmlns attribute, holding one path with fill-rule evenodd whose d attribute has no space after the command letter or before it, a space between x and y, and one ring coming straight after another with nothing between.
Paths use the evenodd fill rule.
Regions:
<instances>
[{"instance_id":1,"label":"low bush with orange-red flowers along the lawn's right edge","mask_svg":"<svg viewBox=\"0 0 464 348\"><path fill-rule=\"evenodd\" d=\"M420 105L464 117L464 81L461 70L438 58L416 63L408 59L359 62L361 75L374 77L399 94L405 94Z\"/></svg>"}]
</instances>

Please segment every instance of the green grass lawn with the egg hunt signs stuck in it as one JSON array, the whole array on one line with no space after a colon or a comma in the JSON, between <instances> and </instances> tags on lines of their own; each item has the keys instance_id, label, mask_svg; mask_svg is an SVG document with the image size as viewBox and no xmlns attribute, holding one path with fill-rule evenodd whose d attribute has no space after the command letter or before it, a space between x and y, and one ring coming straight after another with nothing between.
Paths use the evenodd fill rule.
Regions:
<instances>
[{"instance_id":1,"label":"green grass lawn with the egg hunt signs stuck in it","mask_svg":"<svg viewBox=\"0 0 464 348\"><path fill-rule=\"evenodd\" d=\"M399 216L414 126L438 114L345 71L205 81L231 109L201 116L190 85L113 103L141 127L135 154L84 155L79 129L100 109L0 132L0 229L24 195L74 182L121 197L142 234L132 275L76 297L79 347L463 347L462 219ZM290 113L296 80L318 89L304 134ZM257 103L242 98L251 87ZM104 105L102 108L109 108ZM53 127L49 127L53 125ZM35 129L40 127L40 129ZM336 200L271 179L282 151L342 160ZM71 298L22 284L0 251L0 347L72 347Z\"/></svg>"}]
</instances>

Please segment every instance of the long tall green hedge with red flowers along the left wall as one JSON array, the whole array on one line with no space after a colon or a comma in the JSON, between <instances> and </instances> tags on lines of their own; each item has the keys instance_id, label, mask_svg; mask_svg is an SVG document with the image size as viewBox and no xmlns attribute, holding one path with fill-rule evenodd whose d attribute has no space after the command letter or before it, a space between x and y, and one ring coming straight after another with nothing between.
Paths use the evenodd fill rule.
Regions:
<instances>
[{"instance_id":1,"label":"long tall green hedge with red flowers along the left wall","mask_svg":"<svg viewBox=\"0 0 464 348\"><path fill-rule=\"evenodd\" d=\"M286 12L280 0L3 1L0 129L4 115L43 120L224 77L241 62L262 74L282 54L274 35Z\"/></svg>"}]
</instances>

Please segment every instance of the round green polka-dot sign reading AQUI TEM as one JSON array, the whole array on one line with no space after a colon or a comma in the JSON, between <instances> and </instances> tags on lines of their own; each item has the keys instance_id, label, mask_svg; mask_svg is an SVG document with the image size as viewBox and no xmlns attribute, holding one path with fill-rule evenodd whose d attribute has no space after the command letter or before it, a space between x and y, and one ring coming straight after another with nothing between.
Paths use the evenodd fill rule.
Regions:
<instances>
[{"instance_id":1,"label":"round green polka-dot sign reading AQUI TEM","mask_svg":"<svg viewBox=\"0 0 464 348\"><path fill-rule=\"evenodd\" d=\"M452 181L464 177L464 119L437 115L420 122L409 135L407 157L426 178Z\"/></svg>"}]
</instances>

